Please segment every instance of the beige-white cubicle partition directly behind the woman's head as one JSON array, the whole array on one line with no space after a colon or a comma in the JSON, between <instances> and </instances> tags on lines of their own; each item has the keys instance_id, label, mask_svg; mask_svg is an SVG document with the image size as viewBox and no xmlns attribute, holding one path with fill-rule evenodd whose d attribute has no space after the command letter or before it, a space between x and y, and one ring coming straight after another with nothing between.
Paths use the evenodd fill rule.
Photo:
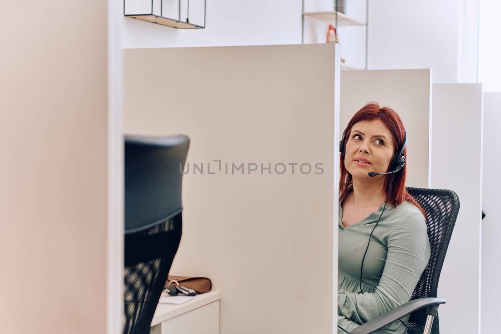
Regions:
<instances>
[{"instance_id":1,"label":"beige-white cubicle partition directly behind the woman's head","mask_svg":"<svg viewBox=\"0 0 501 334\"><path fill-rule=\"evenodd\" d=\"M431 70L341 71L340 137L367 102L395 110L407 130L407 186L429 187Z\"/></svg>"}]
</instances>

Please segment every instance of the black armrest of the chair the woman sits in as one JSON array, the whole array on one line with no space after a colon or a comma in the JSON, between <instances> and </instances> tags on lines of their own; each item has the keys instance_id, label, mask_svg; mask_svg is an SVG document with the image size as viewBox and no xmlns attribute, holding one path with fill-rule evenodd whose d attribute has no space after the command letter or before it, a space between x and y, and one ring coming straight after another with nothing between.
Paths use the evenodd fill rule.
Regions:
<instances>
[{"instance_id":1,"label":"black armrest of the chair the woman sits in","mask_svg":"<svg viewBox=\"0 0 501 334\"><path fill-rule=\"evenodd\" d=\"M414 299L406 302L405 304L402 304L394 309L392 309L389 312L384 313L380 317L373 319L371 321L368 321L357 328L354 328L353 330L350 331L350 334L369 334L372 333L378 329L383 328L386 325L389 325L390 323L397 321L400 318L403 318L407 314L410 314L414 311L417 311L418 309L421 309L423 307L428 307L428 306L433 306L436 305L438 307L438 304L445 304L445 299L442 298L419 298L419 299ZM431 313L431 312L430 312ZM435 314L436 315L436 311Z\"/></svg>"}]
</instances>

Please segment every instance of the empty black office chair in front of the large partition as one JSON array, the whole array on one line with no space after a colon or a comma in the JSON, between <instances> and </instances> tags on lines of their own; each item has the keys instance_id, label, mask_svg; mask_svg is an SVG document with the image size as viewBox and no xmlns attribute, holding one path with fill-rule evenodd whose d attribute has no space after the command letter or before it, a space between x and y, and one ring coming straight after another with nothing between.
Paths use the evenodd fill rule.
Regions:
<instances>
[{"instance_id":1,"label":"empty black office chair in front of the large partition","mask_svg":"<svg viewBox=\"0 0 501 334\"><path fill-rule=\"evenodd\" d=\"M189 139L125 136L124 334L150 332L181 239Z\"/></svg>"}]
</instances>

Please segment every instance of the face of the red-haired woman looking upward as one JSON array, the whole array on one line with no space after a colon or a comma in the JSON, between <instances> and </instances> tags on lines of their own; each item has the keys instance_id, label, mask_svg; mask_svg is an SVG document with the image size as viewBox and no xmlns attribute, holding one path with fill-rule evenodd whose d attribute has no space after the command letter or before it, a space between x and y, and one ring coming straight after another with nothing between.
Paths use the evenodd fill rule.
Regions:
<instances>
[{"instance_id":1,"label":"face of the red-haired woman looking upward","mask_svg":"<svg viewBox=\"0 0 501 334\"><path fill-rule=\"evenodd\" d=\"M381 120L357 122L346 141L346 170L354 178L371 178L369 172L386 173L393 151L393 135Z\"/></svg>"}]
</instances>

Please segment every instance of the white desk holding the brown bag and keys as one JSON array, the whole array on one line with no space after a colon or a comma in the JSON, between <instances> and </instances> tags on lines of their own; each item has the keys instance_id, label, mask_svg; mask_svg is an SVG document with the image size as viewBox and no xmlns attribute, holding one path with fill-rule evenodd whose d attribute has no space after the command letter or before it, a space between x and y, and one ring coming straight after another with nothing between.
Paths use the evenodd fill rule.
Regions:
<instances>
[{"instance_id":1,"label":"white desk holding the brown bag and keys","mask_svg":"<svg viewBox=\"0 0 501 334\"><path fill-rule=\"evenodd\" d=\"M151 334L219 334L219 298L210 291L180 305L159 303Z\"/></svg>"}]
</instances>

